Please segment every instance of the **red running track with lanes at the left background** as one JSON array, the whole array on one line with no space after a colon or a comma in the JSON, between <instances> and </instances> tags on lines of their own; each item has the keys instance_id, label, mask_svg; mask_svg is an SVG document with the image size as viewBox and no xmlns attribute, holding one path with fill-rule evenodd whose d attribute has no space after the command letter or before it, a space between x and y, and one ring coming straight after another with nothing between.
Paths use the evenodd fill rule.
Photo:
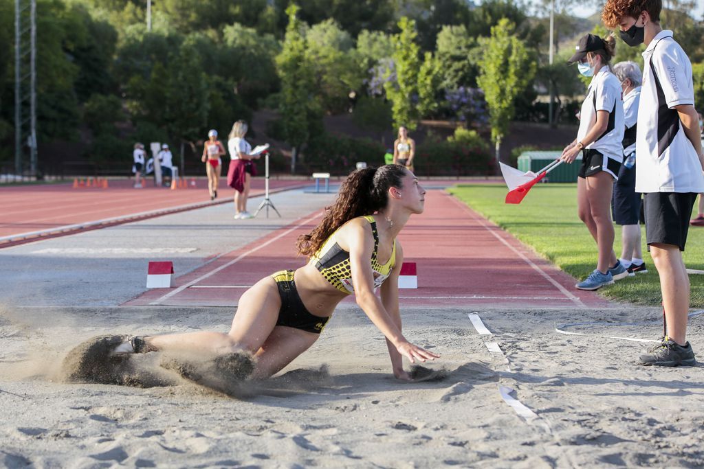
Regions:
<instances>
[{"instance_id":1,"label":"red running track with lanes at the left background","mask_svg":"<svg viewBox=\"0 0 704 469\"><path fill-rule=\"evenodd\" d=\"M191 181L196 185L191 186ZM264 193L264 182L264 179L252 181L251 197ZM277 192L308 185L309 181L272 179L270 191ZM208 195L206 179L189 179L189 188L175 191L153 187L151 181L147 181L144 188L135 189L132 187L132 181L125 180L109 181L106 189L73 188L73 184L1 188L0 248L204 205L232 203L233 194L233 189L222 179L218 188L218 199L213 202ZM96 221L106 222L93 226L75 226Z\"/></svg>"}]
</instances>

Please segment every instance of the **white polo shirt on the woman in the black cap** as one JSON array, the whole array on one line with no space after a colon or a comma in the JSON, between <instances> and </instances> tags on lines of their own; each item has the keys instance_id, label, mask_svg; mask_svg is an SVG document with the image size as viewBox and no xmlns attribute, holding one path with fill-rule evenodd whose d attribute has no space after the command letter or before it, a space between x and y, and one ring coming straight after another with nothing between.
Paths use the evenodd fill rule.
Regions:
<instances>
[{"instance_id":1,"label":"white polo shirt on the woman in the black cap","mask_svg":"<svg viewBox=\"0 0 704 469\"><path fill-rule=\"evenodd\" d=\"M582 103L582 113L579 119L577 141L584 139L589 129L596 124L596 112L605 110L609 113L609 122L601 136L589 143L587 150L597 150L604 156L621 164L623 161L623 100L621 83L608 66L604 66L591 79L586 98ZM613 174L617 177L617 174Z\"/></svg>"}]
</instances>

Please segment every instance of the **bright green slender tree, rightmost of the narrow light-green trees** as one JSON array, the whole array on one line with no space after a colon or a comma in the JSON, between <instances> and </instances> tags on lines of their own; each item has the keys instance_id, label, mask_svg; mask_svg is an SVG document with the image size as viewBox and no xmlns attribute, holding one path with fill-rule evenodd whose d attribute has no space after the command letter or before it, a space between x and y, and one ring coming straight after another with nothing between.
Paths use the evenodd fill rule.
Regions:
<instances>
[{"instance_id":1,"label":"bright green slender tree, rightmost of the narrow light-green trees","mask_svg":"<svg viewBox=\"0 0 704 469\"><path fill-rule=\"evenodd\" d=\"M496 143L498 162L501 139L515 113L515 99L532 83L535 62L520 39L515 37L515 25L503 18L491 28L491 37L479 40L484 49L484 62L477 82L484 90L489 105L491 139Z\"/></svg>"}]
</instances>

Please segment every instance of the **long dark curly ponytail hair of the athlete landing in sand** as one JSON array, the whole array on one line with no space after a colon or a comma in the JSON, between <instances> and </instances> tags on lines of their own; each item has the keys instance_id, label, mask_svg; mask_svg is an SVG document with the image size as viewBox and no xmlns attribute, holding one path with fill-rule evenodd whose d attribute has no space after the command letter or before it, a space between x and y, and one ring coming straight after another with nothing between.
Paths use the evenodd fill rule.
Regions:
<instances>
[{"instance_id":1,"label":"long dark curly ponytail hair of the athlete landing in sand","mask_svg":"<svg viewBox=\"0 0 704 469\"><path fill-rule=\"evenodd\" d=\"M298 236L298 254L312 256L325 240L347 221L372 215L389 203L389 188L401 188L406 169L400 165L357 169L344 180L334 205L325 207L327 214L309 234Z\"/></svg>"}]
</instances>

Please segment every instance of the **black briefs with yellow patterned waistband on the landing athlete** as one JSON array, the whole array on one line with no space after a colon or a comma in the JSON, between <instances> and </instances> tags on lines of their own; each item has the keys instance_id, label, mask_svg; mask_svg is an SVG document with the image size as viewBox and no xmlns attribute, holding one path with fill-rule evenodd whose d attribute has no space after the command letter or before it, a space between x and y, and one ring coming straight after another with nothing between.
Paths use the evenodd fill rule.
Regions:
<instances>
[{"instance_id":1,"label":"black briefs with yellow patterned waistband on the landing athlete","mask_svg":"<svg viewBox=\"0 0 704 469\"><path fill-rule=\"evenodd\" d=\"M315 316L306 309L306 305L303 304L298 290L296 290L294 271L278 271L276 274L272 274L272 278L276 282L281 296L281 309L279 309L279 319L276 321L276 325L320 334L330 318Z\"/></svg>"}]
</instances>

